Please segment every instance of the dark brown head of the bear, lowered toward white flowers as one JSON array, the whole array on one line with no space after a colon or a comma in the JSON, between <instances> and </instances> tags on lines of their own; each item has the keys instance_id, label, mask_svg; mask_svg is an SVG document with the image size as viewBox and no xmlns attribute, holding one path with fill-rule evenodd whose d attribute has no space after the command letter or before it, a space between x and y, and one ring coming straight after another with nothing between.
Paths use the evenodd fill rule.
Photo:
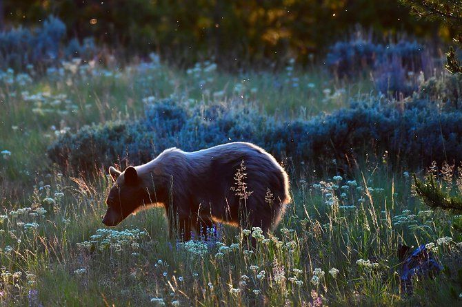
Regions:
<instances>
[{"instance_id":1,"label":"dark brown head of the bear, lowered toward white flowers","mask_svg":"<svg viewBox=\"0 0 462 307\"><path fill-rule=\"evenodd\" d=\"M114 179L114 185L106 200L108 211L103 218L103 224L116 226L128 215L149 202L150 198L143 180L138 176L134 167L127 167L123 172L110 167L109 173Z\"/></svg>"}]
</instances>

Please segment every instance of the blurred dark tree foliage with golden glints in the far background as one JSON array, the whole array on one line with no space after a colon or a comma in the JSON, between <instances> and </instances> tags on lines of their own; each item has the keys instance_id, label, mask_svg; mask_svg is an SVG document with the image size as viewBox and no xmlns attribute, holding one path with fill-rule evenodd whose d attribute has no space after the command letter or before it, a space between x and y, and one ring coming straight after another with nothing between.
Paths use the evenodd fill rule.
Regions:
<instances>
[{"instance_id":1,"label":"blurred dark tree foliage with golden glints in the far background","mask_svg":"<svg viewBox=\"0 0 462 307\"><path fill-rule=\"evenodd\" d=\"M321 54L358 24L379 35L435 30L434 24L417 23L399 3L379 0L3 2L10 25L38 25L54 14L66 23L69 37L93 36L123 52L157 52L180 64L198 58L233 66L268 67L289 57L308 62L310 54Z\"/></svg>"}]
</instances>

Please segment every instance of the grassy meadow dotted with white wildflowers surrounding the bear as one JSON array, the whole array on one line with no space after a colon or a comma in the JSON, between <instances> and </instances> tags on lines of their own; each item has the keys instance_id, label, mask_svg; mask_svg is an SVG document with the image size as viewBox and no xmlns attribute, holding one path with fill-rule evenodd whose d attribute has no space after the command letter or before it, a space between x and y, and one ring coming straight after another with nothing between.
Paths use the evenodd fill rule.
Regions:
<instances>
[{"instance_id":1,"label":"grassy meadow dotted with white wildflowers surrounding the bear","mask_svg":"<svg viewBox=\"0 0 462 307\"><path fill-rule=\"evenodd\" d=\"M419 91L425 81L447 77L408 72L404 78ZM181 71L155 54L120 67L72 59L43 73L32 65L1 71L0 303L461 304L462 216L425 207L410 175L422 176L425 169L394 167L388 163L394 157L366 155L348 170L330 160L326 171L285 157L293 202L272 234L220 226L208 240L176 242L168 238L161 209L132 215L114 229L103 226L107 171L101 165L85 172L53 165L47 155L62 136L84 125L137 121L146 105L161 98L191 108L245 105L279 122L328 114L350 100L396 100L376 91L369 76L345 80L320 67L298 70L293 61L277 73L230 75L212 62ZM443 172L442 180L462 190L457 166L430 171ZM400 244L424 244L443 270L415 277L412 291L404 291Z\"/></svg>"}]
</instances>

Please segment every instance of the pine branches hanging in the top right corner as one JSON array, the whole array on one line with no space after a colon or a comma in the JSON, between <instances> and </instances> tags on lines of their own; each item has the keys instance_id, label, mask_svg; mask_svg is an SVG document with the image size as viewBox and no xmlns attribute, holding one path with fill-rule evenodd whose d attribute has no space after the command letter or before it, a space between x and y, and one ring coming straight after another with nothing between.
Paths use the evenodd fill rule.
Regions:
<instances>
[{"instance_id":1,"label":"pine branches hanging in the top right corner","mask_svg":"<svg viewBox=\"0 0 462 307\"><path fill-rule=\"evenodd\" d=\"M439 21L454 31L453 40L462 48L462 0L400 0L419 18ZM462 74L462 66L456 59L453 47L446 54L445 68L452 74Z\"/></svg>"}]
</instances>

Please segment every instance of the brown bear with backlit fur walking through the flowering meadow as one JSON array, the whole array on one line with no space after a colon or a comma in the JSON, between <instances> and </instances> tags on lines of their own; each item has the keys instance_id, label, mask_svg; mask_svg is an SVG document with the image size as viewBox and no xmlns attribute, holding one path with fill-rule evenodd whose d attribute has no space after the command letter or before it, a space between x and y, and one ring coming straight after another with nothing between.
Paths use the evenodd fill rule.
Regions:
<instances>
[{"instance_id":1,"label":"brown bear with backlit fur walking through the flowering meadow","mask_svg":"<svg viewBox=\"0 0 462 307\"><path fill-rule=\"evenodd\" d=\"M123 172L110 167L109 173L114 184L103 224L115 226L141 209L163 207L170 236L185 241L192 231L204 234L217 223L268 233L291 201L288 174L249 142L192 152L174 147L144 165Z\"/></svg>"}]
</instances>

